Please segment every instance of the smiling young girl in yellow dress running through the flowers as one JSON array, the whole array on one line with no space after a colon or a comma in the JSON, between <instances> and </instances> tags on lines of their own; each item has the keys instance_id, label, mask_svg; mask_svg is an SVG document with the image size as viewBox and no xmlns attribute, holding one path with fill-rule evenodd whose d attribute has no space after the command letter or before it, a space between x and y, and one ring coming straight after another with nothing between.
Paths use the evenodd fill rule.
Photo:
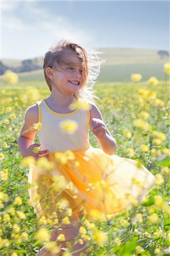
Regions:
<instances>
[{"instance_id":1,"label":"smiling young girl in yellow dress running through the flowers","mask_svg":"<svg viewBox=\"0 0 170 256\"><path fill-rule=\"evenodd\" d=\"M53 225L51 241L60 233L65 241L76 236L83 214L90 219L96 211L109 218L130 208L132 199L140 203L154 185L154 175L142 164L115 155L115 139L94 104L92 86L87 86L94 84L101 63L78 44L61 40L44 57L44 76L51 95L28 108L25 115L18 141L22 156L34 156L38 161L47 158L54 164L46 170L30 165L28 182L37 184L28 189L34 211L37 217L55 216L62 199L72 209L71 225L63 224L63 229L69 229L64 232ZM36 123L41 123L40 129ZM102 149L90 146L89 128ZM36 132L40 144L32 144ZM35 152L40 145L42 150ZM74 255L80 255L84 247L77 243ZM64 247L57 255L63 251ZM43 247L36 255L51 254Z\"/></svg>"}]
</instances>

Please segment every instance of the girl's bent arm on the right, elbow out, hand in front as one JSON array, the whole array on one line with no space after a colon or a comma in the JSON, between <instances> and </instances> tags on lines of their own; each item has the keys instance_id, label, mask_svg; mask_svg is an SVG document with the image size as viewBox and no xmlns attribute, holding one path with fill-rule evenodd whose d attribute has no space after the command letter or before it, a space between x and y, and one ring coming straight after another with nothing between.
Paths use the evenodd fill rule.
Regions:
<instances>
[{"instance_id":1,"label":"girl's bent arm on the right, elbow out, hand in front","mask_svg":"<svg viewBox=\"0 0 170 256\"><path fill-rule=\"evenodd\" d=\"M90 128L97 138L102 150L107 155L114 155L117 150L117 143L110 134L105 123L103 122L102 114L95 104L91 104L90 109Z\"/></svg>"}]
</instances>

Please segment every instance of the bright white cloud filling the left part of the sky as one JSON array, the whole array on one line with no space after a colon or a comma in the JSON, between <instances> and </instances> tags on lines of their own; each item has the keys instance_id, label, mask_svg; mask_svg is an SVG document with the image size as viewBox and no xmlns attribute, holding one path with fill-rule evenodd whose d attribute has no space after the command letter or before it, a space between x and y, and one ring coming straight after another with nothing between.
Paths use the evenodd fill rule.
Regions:
<instances>
[{"instance_id":1,"label":"bright white cloud filling the left part of the sky","mask_svg":"<svg viewBox=\"0 0 170 256\"><path fill-rule=\"evenodd\" d=\"M25 11L26 17L23 19ZM2 58L42 56L53 43L62 38L82 46L94 40L92 33L73 24L73 20L65 16L48 13L39 2L6 2L2 5L1 26Z\"/></svg>"}]
</instances>

